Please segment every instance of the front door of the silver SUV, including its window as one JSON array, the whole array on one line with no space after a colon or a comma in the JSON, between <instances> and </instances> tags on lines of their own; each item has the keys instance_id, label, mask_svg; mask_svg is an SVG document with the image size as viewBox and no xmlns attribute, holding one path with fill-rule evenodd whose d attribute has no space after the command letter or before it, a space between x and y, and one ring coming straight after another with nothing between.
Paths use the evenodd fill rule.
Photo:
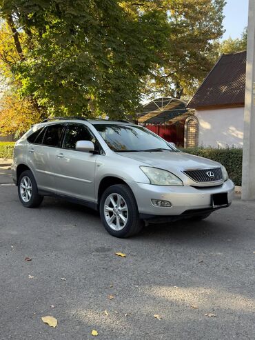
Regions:
<instances>
[{"instance_id":1,"label":"front door of the silver SUV, including its window","mask_svg":"<svg viewBox=\"0 0 255 340\"><path fill-rule=\"evenodd\" d=\"M93 141L94 136L82 123L68 123L61 150L57 150L55 180L57 192L83 201L94 202L94 173L97 154L75 150L77 141Z\"/></svg>"}]
</instances>

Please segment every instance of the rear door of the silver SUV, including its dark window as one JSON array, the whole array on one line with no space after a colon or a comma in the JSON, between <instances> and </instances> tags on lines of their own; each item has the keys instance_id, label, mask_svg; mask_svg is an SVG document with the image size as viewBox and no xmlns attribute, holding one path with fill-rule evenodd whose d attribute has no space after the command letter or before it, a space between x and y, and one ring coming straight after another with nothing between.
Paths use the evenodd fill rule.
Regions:
<instances>
[{"instance_id":1,"label":"rear door of the silver SUV, including its dark window","mask_svg":"<svg viewBox=\"0 0 255 340\"><path fill-rule=\"evenodd\" d=\"M61 123L51 124L39 129L38 135L28 137L28 164L34 172L40 190L56 191L54 163L56 150L61 146L64 128L64 124Z\"/></svg>"}]
</instances>

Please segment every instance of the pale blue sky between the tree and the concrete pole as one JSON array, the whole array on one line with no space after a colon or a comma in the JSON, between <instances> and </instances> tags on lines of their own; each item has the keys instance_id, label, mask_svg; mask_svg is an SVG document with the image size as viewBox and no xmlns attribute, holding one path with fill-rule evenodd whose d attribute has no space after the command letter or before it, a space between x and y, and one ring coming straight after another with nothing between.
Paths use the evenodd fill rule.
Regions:
<instances>
[{"instance_id":1,"label":"pale blue sky between the tree and the concrete pole","mask_svg":"<svg viewBox=\"0 0 255 340\"><path fill-rule=\"evenodd\" d=\"M248 24L248 4L249 0L226 0L227 4L224 8L225 19L223 26L226 32L223 39L240 38L243 29Z\"/></svg>"}]
</instances>

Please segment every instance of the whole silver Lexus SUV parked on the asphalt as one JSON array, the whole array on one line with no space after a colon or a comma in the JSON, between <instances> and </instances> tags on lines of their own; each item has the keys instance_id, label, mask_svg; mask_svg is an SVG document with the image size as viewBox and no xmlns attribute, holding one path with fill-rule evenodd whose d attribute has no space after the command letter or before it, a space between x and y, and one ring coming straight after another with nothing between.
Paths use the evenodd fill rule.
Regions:
<instances>
[{"instance_id":1,"label":"whole silver Lexus SUV parked on the asphalt","mask_svg":"<svg viewBox=\"0 0 255 340\"><path fill-rule=\"evenodd\" d=\"M126 121L47 119L17 141L12 164L23 206L58 196L100 211L129 237L146 223L204 219L230 206L234 183L215 161L180 152Z\"/></svg>"}]
</instances>

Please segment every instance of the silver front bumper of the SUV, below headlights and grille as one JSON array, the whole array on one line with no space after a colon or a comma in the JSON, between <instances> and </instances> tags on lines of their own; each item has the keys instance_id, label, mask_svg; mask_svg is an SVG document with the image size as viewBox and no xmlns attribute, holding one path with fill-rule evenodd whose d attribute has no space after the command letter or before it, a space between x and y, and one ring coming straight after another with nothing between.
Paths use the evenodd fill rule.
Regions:
<instances>
[{"instance_id":1,"label":"silver front bumper of the SUV, below headlights and grille","mask_svg":"<svg viewBox=\"0 0 255 340\"><path fill-rule=\"evenodd\" d=\"M226 192L229 205L234 196L234 183L227 179L221 186L153 186L152 184L128 182L134 193L141 216L178 216L187 210L213 210L212 194ZM152 199L170 201L171 207L156 207Z\"/></svg>"}]
</instances>

